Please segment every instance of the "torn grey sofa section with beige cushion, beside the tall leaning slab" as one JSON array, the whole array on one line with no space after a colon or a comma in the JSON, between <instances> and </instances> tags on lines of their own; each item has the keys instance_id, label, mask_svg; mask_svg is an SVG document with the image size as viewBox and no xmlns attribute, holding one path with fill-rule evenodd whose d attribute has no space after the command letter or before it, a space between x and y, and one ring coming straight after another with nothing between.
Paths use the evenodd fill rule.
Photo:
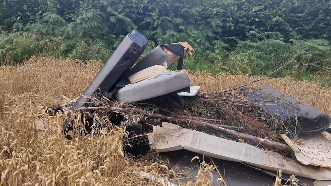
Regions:
<instances>
[{"instance_id":1,"label":"torn grey sofa section with beige cushion, beside the tall leaning slab","mask_svg":"<svg viewBox=\"0 0 331 186\"><path fill-rule=\"evenodd\" d=\"M178 70L182 68L184 56L192 55L191 51L194 50L187 42L157 46L127 72L129 82L126 82L131 84L119 89L114 98L129 103L144 100L156 105L170 103L183 108L184 101L177 93L190 91L190 79L186 72ZM177 71L167 71L177 59Z\"/></svg>"}]
</instances>

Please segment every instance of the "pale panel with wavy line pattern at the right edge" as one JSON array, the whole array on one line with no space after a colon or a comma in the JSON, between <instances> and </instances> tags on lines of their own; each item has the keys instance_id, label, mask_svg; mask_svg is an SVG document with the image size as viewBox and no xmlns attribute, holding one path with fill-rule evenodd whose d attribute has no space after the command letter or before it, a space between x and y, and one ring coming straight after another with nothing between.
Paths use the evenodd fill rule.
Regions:
<instances>
[{"instance_id":1,"label":"pale panel with wavy line pattern at the right edge","mask_svg":"<svg viewBox=\"0 0 331 186\"><path fill-rule=\"evenodd\" d=\"M292 148L300 163L331 168L331 141L323 133L299 137L280 136Z\"/></svg>"}]
</instances>

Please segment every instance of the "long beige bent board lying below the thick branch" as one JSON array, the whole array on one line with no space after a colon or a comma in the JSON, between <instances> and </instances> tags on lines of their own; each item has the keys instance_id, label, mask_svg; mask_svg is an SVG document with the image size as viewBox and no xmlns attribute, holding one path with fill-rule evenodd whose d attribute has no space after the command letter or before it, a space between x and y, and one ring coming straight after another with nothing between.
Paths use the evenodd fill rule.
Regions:
<instances>
[{"instance_id":1,"label":"long beige bent board lying below the thick branch","mask_svg":"<svg viewBox=\"0 0 331 186\"><path fill-rule=\"evenodd\" d=\"M217 159L246 163L267 170L282 171L317 180L331 180L331 169L295 163L278 153L235 142L179 126L154 126L148 134L150 145L157 152L185 149Z\"/></svg>"}]
</instances>

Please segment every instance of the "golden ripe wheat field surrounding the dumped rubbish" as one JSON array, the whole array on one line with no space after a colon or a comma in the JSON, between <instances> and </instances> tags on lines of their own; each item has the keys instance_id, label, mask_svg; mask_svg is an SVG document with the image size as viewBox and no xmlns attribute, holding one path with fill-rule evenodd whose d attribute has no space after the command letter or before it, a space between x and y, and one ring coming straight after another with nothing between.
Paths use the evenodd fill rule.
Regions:
<instances>
[{"instance_id":1,"label":"golden ripe wheat field surrounding the dumped rubbish","mask_svg":"<svg viewBox=\"0 0 331 186\"><path fill-rule=\"evenodd\" d=\"M77 97L100 70L100 61L32 57L18 66L0 67L0 173L2 185L161 185L133 170L168 179L175 172L147 159L134 160L123 152L124 128L104 128L99 135L67 140L57 130L34 128L36 115L63 102L61 94ZM188 70L192 85L201 91L228 90L260 77ZM266 84L331 114L330 88L291 78L266 78ZM61 115L52 125L62 125ZM107 119L104 122L107 122ZM196 160L195 160L196 161ZM211 185L213 165L201 164L195 183ZM171 180L170 180L171 181Z\"/></svg>"}]
</instances>

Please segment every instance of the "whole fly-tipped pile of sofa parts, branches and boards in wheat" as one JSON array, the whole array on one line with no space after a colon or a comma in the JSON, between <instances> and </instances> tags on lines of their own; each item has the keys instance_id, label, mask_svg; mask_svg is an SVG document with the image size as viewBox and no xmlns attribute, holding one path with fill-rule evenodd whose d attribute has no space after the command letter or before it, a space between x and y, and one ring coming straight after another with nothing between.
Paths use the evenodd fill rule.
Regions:
<instances>
[{"instance_id":1,"label":"whole fly-tipped pile of sofa parts, branches and boards in wheat","mask_svg":"<svg viewBox=\"0 0 331 186\"><path fill-rule=\"evenodd\" d=\"M263 85L199 92L182 70L184 57L194 53L187 42L159 45L136 63L146 46L133 30L78 98L48 109L68 116L62 128L67 138L75 130L73 113L89 112L125 125L131 139L126 152L166 164L178 173L177 182L194 181L199 165L191 159L198 156L216 167L212 185L275 185L275 177L331 185L328 114ZM177 60L177 70L167 70ZM37 128L43 129L42 119Z\"/></svg>"}]
</instances>

